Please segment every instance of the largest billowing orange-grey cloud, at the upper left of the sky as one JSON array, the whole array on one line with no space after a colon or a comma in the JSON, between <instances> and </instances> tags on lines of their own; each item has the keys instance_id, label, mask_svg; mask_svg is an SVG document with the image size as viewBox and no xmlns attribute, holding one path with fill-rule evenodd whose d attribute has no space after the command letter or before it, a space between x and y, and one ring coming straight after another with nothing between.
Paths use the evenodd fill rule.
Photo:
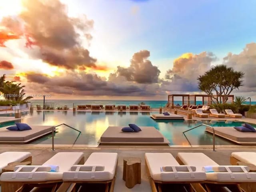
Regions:
<instances>
[{"instance_id":1,"label":"largest billowing orange-grey cloud, at the upper left of the sky","mask_svg":"<svg viewBox=\"0 0 256 192\"><path fill-rule=\"evenodd\" d=\"M67 8L60 0L23 0L23 6L18 18L2 19L5 32L0 31L0 45L23 35L26 47L38 50L33 54L36 59L67 69L96 68L96 59L82 47L82 40L92 39L93 20L86 16L68 17Z\"/></svg>"}]
</instances>

